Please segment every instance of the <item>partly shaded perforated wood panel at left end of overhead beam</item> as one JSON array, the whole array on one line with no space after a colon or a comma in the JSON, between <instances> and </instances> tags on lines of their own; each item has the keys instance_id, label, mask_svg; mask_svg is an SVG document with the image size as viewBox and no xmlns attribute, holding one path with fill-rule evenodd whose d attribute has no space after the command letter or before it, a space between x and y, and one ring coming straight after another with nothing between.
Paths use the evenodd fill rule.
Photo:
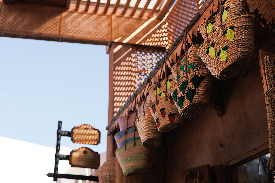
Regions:
<instances>
[{"instance_id":1,"label":"partly shaded perforated wood panel at left end of overhead beam","mask_svg":"<svg viewBox=\"0 0 275 183\"><path fill-rule=\"evenodd\" d=\"M60 9L35 5L2 4L0 29L31 33L58 34Z\"/></svg>"}]
</instances>

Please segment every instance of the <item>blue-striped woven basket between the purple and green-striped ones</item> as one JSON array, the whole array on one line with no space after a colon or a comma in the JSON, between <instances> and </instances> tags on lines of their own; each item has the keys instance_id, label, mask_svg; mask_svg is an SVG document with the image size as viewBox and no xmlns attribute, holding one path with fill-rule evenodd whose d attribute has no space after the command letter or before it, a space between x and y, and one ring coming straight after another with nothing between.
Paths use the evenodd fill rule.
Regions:
<instances>
[{"instance_id":1,"label":"blue-striped woven basket between the purple and green-striped ones","mask_svg":"<svg viewBox=\"0 0 275 183\"><path fill-rule=\"evenodd\" d=\"M126 133L125 131L126 130L120 131L114 136L118 148L124 147L125 139L126 139L126 143L133 142L134 139L140 140L139 132L137 128L135 130L135 133L134 133L134 127L129 128Z\"/></svg>"}]
</instances>

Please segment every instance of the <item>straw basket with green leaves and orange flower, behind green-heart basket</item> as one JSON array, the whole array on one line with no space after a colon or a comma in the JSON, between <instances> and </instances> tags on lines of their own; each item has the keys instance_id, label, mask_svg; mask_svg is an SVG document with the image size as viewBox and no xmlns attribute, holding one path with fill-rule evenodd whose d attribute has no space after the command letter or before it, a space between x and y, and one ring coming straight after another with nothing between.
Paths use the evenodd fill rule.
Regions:
<instances>
[{"instance_id":1,"label":"straw basket with green leaves and orange flower, behind green-heart basket","mask_svg":"<svg viewBox=\"0 0 275 183\"><path fill-rule=\"evenodd\" d=\"M188 60L188 65L187 65L187 74L189 74L189 72L192 72L194 69L199 68L199 67L205 67L204 62L202 61L202 59L199 57L199 55L197 54L199 47L201 45L200 44L194 44L192 45L187 52L187 60ZM175 81L177 82L177 69L176 69L176 65L174 64L171 67L171 72L172 75L175 78ZM183 57L180 60L180 64L178 64L178 78L179 80L181 78L183 78L183 76L185 75L185 57Z\"/></svg>"}]
</instances>

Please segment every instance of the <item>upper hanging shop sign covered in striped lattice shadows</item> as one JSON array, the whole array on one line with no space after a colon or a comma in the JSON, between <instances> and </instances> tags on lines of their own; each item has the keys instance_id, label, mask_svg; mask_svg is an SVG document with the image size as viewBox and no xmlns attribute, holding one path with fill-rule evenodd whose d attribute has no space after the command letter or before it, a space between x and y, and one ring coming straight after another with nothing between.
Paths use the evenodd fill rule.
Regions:
<instances>
[{"instance_id":1,"label":"upper hanging shop sign covered in striped lattice shadows","mask_svg":"<svg viewBox=\"0 0 275 183\"><path fill-rule=\"evenodd\" d=\"M71 139L73 143L98 145L100 143L100 131L91 125L75 126L72 129Z\"/></svg>"}]
</instances>

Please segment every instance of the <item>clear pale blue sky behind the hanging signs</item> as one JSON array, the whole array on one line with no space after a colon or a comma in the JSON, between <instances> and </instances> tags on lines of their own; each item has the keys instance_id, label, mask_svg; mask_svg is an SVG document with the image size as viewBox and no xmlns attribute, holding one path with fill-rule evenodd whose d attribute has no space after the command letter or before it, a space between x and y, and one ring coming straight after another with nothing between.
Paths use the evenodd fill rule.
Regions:
<instances>
[{"instance_id":1,"label":"clear pale blue sky behind the hanging signs","mask_svg":"<svg viewBox=\"0 0 275 183\"><path fill-rule=\"evenodd\" d=\"M109 55L106 46L0 37L0 136L56 147L62 130L90 124L107 148Z\"/></svg>"}]
</instances>

